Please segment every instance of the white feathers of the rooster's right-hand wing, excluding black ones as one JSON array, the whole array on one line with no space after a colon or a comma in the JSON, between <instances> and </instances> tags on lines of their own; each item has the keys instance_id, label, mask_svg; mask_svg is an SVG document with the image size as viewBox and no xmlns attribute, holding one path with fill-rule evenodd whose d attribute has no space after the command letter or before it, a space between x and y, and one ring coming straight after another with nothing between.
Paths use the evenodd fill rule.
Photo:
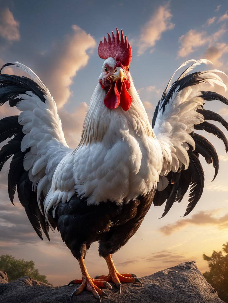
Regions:
<instances>
[{"instance_id":1,"label":"white feathers of the rooster's right-hand wing, excluding black ones","mask_svg":"<svg viewBox=\"0 0 228 303\"><path fill-rule=\"evenodd\" d=\"M204 59L194 61L178 80L186 76L196 65L208 62L210 63L210 61ZM184 65L186 64L184 63L182 66ZM197 77L200 82L207 83L212 87L219 85L226 90L226 85L216 73L224 74L218 70L209 70L201 72ZM189 156L187 150L190 146L193 149L195 148L195 142L190 133L193 132L194 125L204 121L203 115L197 112L197 109L202 108L205 102L200 97L203 90L201 85L201 83L186 85L183 89L177 86L175 91L172 92L173 85L168 87L168 84L165 95L172 92L171 97L168 101L165 101L165 98L161 99L153 128L164 157L160 176L166 176L170 170L176 172L183 165L185 169L188 168ZM164 102L166 102L165 107Z\"/></svg>"}]
</instances>

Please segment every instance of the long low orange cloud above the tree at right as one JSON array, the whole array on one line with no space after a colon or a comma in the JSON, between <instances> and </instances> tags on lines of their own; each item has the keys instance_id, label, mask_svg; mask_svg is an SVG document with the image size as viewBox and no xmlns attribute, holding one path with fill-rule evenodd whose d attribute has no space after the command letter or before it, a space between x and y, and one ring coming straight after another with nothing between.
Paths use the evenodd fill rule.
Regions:
<instances>
[{"instance_id":1,"label":"long low orange cloud above the tree at right","mask_svg":"<svg viewBox=\"0 0 228 303\"><path fill-rule=\"evenodd\" d=\"M171 235L187 225L213 225L219 229L228 228L228 213L220 218L213 217L212 213L200 211L191 218L182 218L173 224L167 224L159 229L164 235Z\"/></svg>"}]
</instances>

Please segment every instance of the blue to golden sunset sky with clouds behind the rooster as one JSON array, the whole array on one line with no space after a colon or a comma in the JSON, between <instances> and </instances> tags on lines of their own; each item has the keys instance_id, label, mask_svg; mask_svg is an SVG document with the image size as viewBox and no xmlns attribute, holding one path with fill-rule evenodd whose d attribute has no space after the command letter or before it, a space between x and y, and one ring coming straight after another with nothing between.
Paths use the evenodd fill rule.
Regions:
<instances>
[{"instance_id":1,"label":"blue to golden sunset sky with clouds behind the rooster","mask_svg":"<svg viewBox=\"0 0 228 303\"><path fill-rule=\"evenodd\" d=\"M101 72L103 60L97 47L104 35L118 28L130 41L131 75L152 121L167 82L183 62L206 58L213 65L204 65L203 70L215 68L228 74L227 27L227 0L0 0L0 65L19 61L41 78L57 103L66 141L75 148ZM227 84L226 77L224 81ZM222 93L228 98L227 92ZM228 120L224 104L208 103L209 109ZM0 109L0 118L16 114L7 105ZM221 250L228 241L228 156L219 139L207 138L219 155L218 176L211 182L213 167L204 161L204 192L187 217L183 218L187 196L162 219L164 207L152 206L137 233L114 254L119 272L142 277L190 260L205 272L208 266L202 255ZM5 165L0 174L0 255L33 260L55 286L81 278L78 262L58 231L50 231L50 242L41 241L18 198L15 206L11 204L7 169ZM91 276L107 274L97 248L94 243L85 259Z\"/></svg>"}]
</instances>

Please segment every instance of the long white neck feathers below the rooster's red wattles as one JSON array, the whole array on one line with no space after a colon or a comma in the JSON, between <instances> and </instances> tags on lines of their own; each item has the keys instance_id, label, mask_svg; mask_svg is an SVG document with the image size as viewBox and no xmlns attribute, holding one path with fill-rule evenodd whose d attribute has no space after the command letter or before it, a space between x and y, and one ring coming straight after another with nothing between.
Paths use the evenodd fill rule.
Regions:
<instances>
[{"instance_id":1,"label":"long white neck feathers below the rooster's red wattles","mask_svg":"<svg viewBox=\"0 0 228 303\"><path fill-rule=\"evenodd\" d=\"M128 111L124 111L121 106L109 109L104 105L106 91L101 88L100 84L97 84L85 117L79 146L101 141L105 144L106 138L107 144L110 145L117 138L120 139L120 136L124 138L126 131L138 136L155 137L133 82L128 92L132 97L131 107Z\"/></svg>"}]
</instances>

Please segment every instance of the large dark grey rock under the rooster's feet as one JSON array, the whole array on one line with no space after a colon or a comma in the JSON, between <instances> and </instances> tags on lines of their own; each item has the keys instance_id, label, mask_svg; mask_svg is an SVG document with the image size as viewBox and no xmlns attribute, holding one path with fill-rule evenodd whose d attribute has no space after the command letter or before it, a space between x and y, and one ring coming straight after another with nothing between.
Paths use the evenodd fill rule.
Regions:
<instances>
[{"instance_id":1,"label":"large dark grey rock under the rooster's feet","mask_svg":"<svg viewBox=\"0 0 228 303\"><path fill-rule=\"evenodd\" d=\"M216 290L207 283L194 261L181 263L157 273L140 278L140 284L122 283L121 294L105 289L110 296L102 297L102 303L224 303ZM74 296L77 285L52 287L29 277L0 284L0 301L4 303L86 303L98 302L88 291Z\"/></svg>"}]
</instances>

